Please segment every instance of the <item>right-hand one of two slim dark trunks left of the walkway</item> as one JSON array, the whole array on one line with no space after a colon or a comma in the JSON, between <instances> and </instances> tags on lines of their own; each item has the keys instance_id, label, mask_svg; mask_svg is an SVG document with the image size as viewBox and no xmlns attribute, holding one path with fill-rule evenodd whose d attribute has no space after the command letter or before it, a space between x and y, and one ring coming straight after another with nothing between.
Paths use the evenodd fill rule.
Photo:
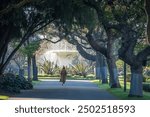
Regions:
<instances>
[{"instance_id":1,"label":"right-hand one of two slim dark trunks left of the walkway","mask_svg":"<svg viewBox=\"0 0 150 117\"><path fill-rule=\"evenodd\" d=\"M35 55L32 57L32 66L33 66L33 80L38 80L38 70L36 65L36 57Z\"/></svg>"}]
</instances>

